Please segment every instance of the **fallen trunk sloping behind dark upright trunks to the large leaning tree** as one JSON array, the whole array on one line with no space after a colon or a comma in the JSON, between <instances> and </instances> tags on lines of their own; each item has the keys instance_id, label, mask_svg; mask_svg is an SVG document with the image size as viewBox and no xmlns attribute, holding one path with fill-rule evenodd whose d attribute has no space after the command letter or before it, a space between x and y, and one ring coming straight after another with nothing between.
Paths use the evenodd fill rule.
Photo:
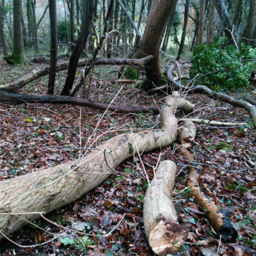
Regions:
<instances>
[{"instance_id":1,"label":"fallen trunk sloping behind dark upright trunks to the large leaning tree","mask_svg":"<svg viewBox=\"0 0 256 256\"><path fill-rule=\"evenodd\" d=\"M129 58L97 58L94 65L144 65L146 62L151 60L153 56L147 56L145 58L141 58L140 60L133 60ZM89 61L82 59L78 62L77 66L89 66ZM68 62L60 62L57 64L56 72L68 69ZM7 90L9 92L15 92L16 90L21 89L23 86L29 84L29 82L32 82L36 80L39 77L46 76L50 73L50 67L46 66L44 68L37 68L32 70L30 73L25 74L21 78L18 78L17 80L10 82L9 84L3 84L0 85L0 90Z\"/></svg>"}]
</instances>

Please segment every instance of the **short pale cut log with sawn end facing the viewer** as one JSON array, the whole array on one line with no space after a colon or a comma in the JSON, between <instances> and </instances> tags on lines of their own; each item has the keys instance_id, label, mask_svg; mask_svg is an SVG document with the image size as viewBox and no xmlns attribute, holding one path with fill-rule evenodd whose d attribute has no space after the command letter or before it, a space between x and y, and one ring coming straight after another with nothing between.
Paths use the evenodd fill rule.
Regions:
<instances>
[{"instance_id":1,"label":"short pale cut log with sawn end facing the viewer","mask_svg":"<svg viewBox=\"0 0 256 256\"><path fill-rule=\"evenodd\" d=\"M184 240L188 235L186 228L177 222L171 199L176 170L174 162L161 162L144 198L145 234L157 255L177 254L183 249Z\"/></svg>"}]
</instances>

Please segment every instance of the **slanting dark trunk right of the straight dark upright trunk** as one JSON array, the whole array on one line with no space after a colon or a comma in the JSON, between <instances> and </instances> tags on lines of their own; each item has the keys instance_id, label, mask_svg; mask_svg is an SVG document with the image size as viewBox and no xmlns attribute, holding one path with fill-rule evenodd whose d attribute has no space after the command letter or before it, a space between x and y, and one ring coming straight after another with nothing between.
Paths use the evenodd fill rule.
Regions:
<instances>
[{"instance_id":1,"label":"slanting dark trunk right of the straight dark upright trunk","mask_svg":"<svg viewBox=\"0 0 256 256\"><path fill-rule=\"evenodd\" d=\"M74 77L76 76L76 68L78 60L85 48L87 38L89 36L90 24L92 22L92 14L95 7L95 0L82 0L82 23L81 31L77 40L76 46L74 46L73 52L69 61L68 76L61 95L68 96L72 89Z\"/></svg>"}]
</instances>

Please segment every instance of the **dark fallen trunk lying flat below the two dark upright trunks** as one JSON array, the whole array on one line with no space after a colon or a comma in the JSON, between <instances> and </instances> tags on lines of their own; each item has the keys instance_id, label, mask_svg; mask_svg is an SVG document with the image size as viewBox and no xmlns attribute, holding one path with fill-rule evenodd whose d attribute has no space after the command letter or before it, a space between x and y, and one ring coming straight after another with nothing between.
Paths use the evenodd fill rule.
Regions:
<instances>
[{"instance_id":1,"label":"dark fallen trunk lying flat below the two dark upright trunks","mask_svg":"<svg viewBox=\"0 0 256 256\"><path fill-rule=\"evenodd\" d=\"M117 111L120 113L145 113L152 111L153 113L159 113L159 109L156 107L128 107L110 105L108 103L94 102L91 100L78 99L76 97L69 96L33 96L29 94L16 94L3 92L0 90L0 101L7 104L23 104L23 103L40 103L40 104L72 104L79 106L86 106L89 108Z\"/></svg>"}]
</instances>

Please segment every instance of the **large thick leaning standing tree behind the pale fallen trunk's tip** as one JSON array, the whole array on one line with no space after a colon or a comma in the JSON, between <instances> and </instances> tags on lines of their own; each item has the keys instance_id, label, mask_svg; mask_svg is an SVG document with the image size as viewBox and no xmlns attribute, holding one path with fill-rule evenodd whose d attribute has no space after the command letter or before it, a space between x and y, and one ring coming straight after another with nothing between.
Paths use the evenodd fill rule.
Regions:
<instances>
[{"instance_id":1,"label":"large thick leaning standing tree behind the pale fallen trunk's tip","mask_svg":"<svg viewBox=\"0 0 256 256\"><path fill-rule=\"evenodd\" d=\"M153 59L145 66L149 88L153 88L155 87L154 85L157 85L161 75L159 62L160 41L166 27L166 23L174 11L176 3L177 0L154 0L149 11L147 24L145 26L139 50L137 51L139 58L143 58L148 55L153 56Z\"/></svg>"}]
</instances>

